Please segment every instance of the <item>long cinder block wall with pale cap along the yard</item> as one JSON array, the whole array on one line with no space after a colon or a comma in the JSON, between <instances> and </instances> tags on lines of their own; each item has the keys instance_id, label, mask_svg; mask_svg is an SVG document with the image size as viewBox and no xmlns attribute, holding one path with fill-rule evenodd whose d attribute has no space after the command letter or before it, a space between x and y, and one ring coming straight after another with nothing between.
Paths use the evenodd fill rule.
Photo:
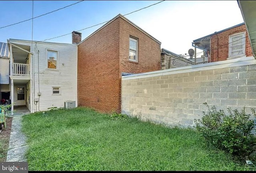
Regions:
<instances>
[{"instance_id":1,"label":"long cinder block wall with pale cap along the yard","mask_svg":"<svg viewBox=\"0 0 256 173\"><path fill-rule=\"evenodd\" d=\"M194 125L208 105L256 108L256 61L243 57L122 78L122 113L165 125Z\"/></svg>"}]
</instances>

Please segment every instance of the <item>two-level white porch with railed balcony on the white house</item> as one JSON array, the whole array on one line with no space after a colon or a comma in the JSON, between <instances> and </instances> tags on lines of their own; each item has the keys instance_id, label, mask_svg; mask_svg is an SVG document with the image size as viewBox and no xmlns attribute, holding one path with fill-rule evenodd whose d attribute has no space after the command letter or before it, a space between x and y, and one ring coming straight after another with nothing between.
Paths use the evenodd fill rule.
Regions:
<instances>
[{"instance_id":1,"label":"two-level white porch with railed balcony on the white house","mask_svg":"<svg viewBox=\"0 0 256 173\"><path fill-rule=\"evenodd\" d=\"M10 42L10 90L11 90L11 107L12 115L26 113L30 110L30 60L32 53L30 46ZM16 107L16 106L23 106ZM16 111L15 111L16 110ZM30 111L29 111L30 112Z\"/></svg>"}]
</instances>

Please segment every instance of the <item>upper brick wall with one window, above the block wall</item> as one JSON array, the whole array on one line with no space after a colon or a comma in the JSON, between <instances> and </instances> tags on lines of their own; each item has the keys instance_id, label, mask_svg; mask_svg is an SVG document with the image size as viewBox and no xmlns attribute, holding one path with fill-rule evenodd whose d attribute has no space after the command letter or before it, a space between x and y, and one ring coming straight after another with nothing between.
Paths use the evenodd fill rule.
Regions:
<instances>
[{"instance_id":1,"label":"upper brick wall with one window, above the block wall","mask_svg":"<svg viewBox=\"0 0 256 173\"><path fill-rule=\"evenodd\" d=\"M120 72L144 73L160 70L160 44L126 22L120 20ZM138 63L129 61L129 38L138 38Z\"/></svg>"}]
</instances>

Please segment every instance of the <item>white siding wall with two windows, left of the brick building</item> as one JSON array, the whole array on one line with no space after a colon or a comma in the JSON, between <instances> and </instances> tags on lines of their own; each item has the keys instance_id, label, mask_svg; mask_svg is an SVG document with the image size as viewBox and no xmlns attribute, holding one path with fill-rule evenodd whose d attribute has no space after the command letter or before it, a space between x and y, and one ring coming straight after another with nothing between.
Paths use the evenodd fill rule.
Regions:
<instances>
[{"instance_id":1,"label":"white siding wall with two windows, left of the brick building","mask_svg":"<svg viewBox=\"0 0 256 173\"><path fill-rule=\"evenodd\" d=\"M31 42L16 41L17 44L31 46ZM77 106L77 45L52 42L38 42L32 46L34 62L32 60L31 78L34 73L35 90L31 89L31 96L39 99L31 108L34 111L46 111L50 107L64 107L66 101L76 101ZM38 56L39 50L39 56ZM48 69L47 50L58 51L57 69ZM39 67L38 67L39 60ZM39 72L39 73L38 73ZM39 74L39 85L38 85ZM52 94L52 87L60 87L61 94ZM41 96L38 96L40 91ZM34 94L35 93L35 94ZM39 106L39 108L38 108Z\"/></svg>"}]
</instances>

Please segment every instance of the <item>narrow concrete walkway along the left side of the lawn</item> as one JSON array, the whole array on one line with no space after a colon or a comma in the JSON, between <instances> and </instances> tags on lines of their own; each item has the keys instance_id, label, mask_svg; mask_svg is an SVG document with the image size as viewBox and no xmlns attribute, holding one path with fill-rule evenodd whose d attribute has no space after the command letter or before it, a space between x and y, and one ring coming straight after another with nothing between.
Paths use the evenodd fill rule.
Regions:
<instances>
[{"instance_id":1,"label":"narrow concrete walkway along the left side of the lawn","mask_svg":"<svg viewBox=\"0 0 256 173\"><path fill-rule=\"evenodd\" d=\"M30 113L28 110L16 111L12 117L12 129L10 134L9 148L7 152L7 162L26 161L25 153L27 149L26 136L21 132L22 116Z\"/></svg>"}]
</instances>

